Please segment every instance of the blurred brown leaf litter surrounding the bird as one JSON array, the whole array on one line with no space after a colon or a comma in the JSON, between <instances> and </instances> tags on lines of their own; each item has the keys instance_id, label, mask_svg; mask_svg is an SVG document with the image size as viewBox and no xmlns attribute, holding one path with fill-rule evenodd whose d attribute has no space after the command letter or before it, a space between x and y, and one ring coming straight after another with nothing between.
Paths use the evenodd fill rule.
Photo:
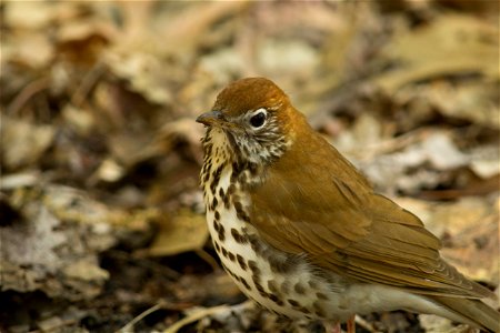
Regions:
<instances>
[{"instance_id":1,"label":"blurred brown leaf litter surrounding the bird","mask_svg":"<svg viewBox=\"0 0 500 333\"><path fill-rule=\"evenodd\" d=\"M321 332L231 306L244 296L208 240L194 119L252 75L498 293L497 1L2 1L0 13L1 332ZM466 330L402 311L362 322Z\"/></svg>"}]
</instances>

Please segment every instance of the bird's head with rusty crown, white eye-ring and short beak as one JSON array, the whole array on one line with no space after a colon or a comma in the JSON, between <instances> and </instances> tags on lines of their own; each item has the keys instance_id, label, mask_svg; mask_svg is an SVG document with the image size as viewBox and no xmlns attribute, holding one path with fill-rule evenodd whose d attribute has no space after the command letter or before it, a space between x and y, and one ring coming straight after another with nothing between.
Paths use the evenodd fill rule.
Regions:
<instances>
[{"instance_id":1,"label":"bird's head with rusty crown, white eye-ring and short beak","mask_svg":"<svg viewBox=\"0 0 500 333\"><path fill-rule=\"evenodd\" d=\"M223 134L240 161L267 164L290 145L294 113L287 94L272 81L248 78L223 89L212 111L197 121L210 128L207 135Z\"/></svg>"}]
</instances>

